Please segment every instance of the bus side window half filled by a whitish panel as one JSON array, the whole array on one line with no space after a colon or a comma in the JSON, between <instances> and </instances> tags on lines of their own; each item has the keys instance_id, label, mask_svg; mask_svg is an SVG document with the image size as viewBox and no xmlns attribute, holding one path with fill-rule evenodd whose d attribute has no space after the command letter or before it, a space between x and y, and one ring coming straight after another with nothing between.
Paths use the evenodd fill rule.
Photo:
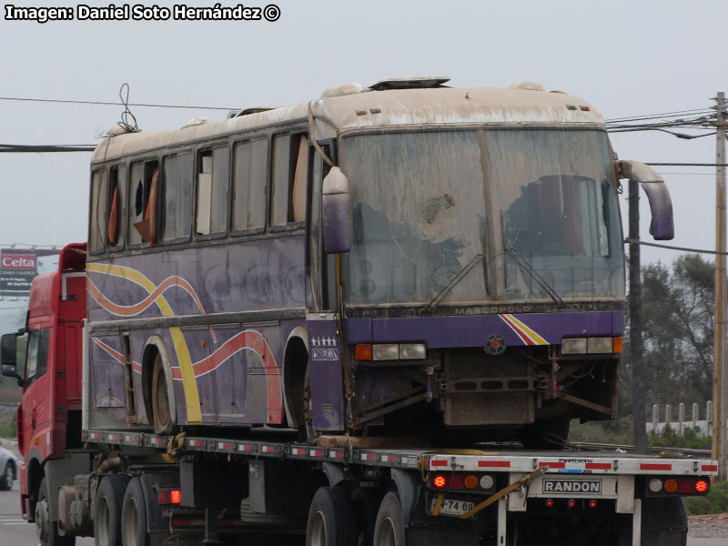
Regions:
<instances>
[{"instance_id":1,"label":"bus side window half filled by a whitish panel","mask_svg":"<svg viewBox=\"0 0 728 546\"><path fill-rule=\"evenodd\" d=\"M197 156L197 235L224 233L227 227L227 147L205 150Z\"/></svg>"}]
</instances>

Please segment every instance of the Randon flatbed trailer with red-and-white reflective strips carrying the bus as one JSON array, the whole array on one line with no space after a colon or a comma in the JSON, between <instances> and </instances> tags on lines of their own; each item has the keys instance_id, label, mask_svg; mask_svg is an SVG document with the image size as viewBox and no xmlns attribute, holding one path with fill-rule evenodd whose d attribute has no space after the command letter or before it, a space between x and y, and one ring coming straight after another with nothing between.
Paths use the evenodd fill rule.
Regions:
<instances>
[{"instance_id":1,"label":"Randon flatbed trailer with red-and-white reflective strips carrying the bus","mask_svg":"<svg viewBox=\"0 0 728 546\"><path fill-rule=\"evenodd\" d=\"M185 487L200 487L194 482L204 480L207 470L202 467L214 467L221 461L248 467L248 500L253 507L276 503L266 499L267 495L277 496L275 491L265 483L258 484L260 487L255 483L281 468L298 472L303 481L310 478L304 476L307 473L325 475L326 487L349 493L371 490L373 494L366 495L369 510L357 525L380 527L374 521L376 500L383 502L386 493L393 491L401 506L401 521L395 517L392 522L393 541L381 540L389 535L375 531L379 539L375 544L546 543L533 541L534 525L537 528L544 519L563 519L561 527L581 529L576 533L580 536L568 543L684 544L687 528L681 496L704 494L717 474L713 460L606 451L531 451L497 444L483 445L481 450L367 449L351 444L325 448L289 441L160 436L138 429L85 430L83 438L96 452L147 448L166 454L172 473L179 472L183 500L189 498ZM323 443L328 440L322 439ZM200 460L206 462L200 464ZM291 488L297 489L295 484ZM362 511L360 506L356 510ZM176 519L174 511L170 516L171 536L184 531L176 529L175 521L194 521ZM204 521L197 518L199 524ZM246 529L246 521L239 518L223 521L227 521L227 533ZM205 535L214 538L216 531L209 524L208 518ZM399 525L405 542L399 541ZM544 530L556 536L554 529ZM355 543L371 543L371 531L359 529L360 540Z\"/></svg>"}]
</instances>

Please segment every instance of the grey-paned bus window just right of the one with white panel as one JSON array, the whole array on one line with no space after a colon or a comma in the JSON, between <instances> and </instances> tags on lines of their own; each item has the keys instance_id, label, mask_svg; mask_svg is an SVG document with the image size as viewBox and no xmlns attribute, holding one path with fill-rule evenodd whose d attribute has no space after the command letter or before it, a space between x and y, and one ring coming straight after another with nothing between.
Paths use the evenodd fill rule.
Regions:
<instances>
[{"instance_id":1,"label":"grey-paned bus window just right of the one with white panel","mask_svg":"<svg viewBox=\"0 0 728 546\"><path fill-rule=\"evenodd\" d=\"M268 140L236 144L233 168L233 231L261 231L266 218Z\"/></svg>"}]
</instances>

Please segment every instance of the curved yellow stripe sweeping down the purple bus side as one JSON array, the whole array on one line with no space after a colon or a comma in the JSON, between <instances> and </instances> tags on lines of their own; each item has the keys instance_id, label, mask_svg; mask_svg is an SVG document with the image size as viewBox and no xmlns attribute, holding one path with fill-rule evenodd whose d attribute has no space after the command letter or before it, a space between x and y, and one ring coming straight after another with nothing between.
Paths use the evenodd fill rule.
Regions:
<instances>
[{"instance_id":1,"label":"curved yellow stripe sweeping down the purple bus side","mask_svg":"<svg viewBox=\"0 0 728 546\"><path fill-rule=\"evenodd\" d=\"M125 266L113 266L110 264L87 264L88 271L96 273L104 273L114 277L126 278L140 287L147 290L149 294L157 288L155 284L145 277L136 269L126 268ZM154 300L159 311L165 317L174 317L175 313L167 302L167 299L161 294ZM187 422L201 422L202 410L199 403L199 391L197 390L197 381L195 380L195 370L192 369L192 359L187 349L187 341L182 334L182 329L171 327L169 333L172 335L172 341L175 345L177 353L177 362L179 363L179 371L182 375L182 385L185 389L185 405L187 406Z\"/></svg>"}]
</instances>

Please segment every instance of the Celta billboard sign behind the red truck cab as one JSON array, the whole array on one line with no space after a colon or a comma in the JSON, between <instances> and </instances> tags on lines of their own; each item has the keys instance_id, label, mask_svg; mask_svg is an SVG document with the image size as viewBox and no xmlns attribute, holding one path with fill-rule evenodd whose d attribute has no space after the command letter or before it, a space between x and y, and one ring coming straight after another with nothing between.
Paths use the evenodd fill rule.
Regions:
<instances>
[{"instance_id":1,"label":"Celta billboard sign behind the red truck cab","mask_svg":"<svg viewBox=\"0 0 728 546\"><path fill-rule=\"evenodd\" d=\"M30 295L36 275L58 269L60 249L3 248L0 250L0 297Z\"/></svg>"}]
</instances>

